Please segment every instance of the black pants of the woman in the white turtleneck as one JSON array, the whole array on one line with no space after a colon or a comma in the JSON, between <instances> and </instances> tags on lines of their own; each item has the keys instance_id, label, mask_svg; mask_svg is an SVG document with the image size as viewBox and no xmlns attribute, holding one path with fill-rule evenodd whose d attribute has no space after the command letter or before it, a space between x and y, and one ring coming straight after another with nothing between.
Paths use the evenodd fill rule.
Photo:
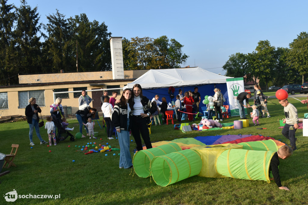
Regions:
<instances>
[{"instance_id":1,"label":"black pants of the woman in the white turtleneck","mask_svg":"<svg viewBox=\"0 0 308 205\"><path fill-rule=\"evenodd\" d=\"M132 116L132 135L136 142L137 151L143 150L140 133L141 133L142 139L147 149L152 148L146 118L143 118L141 115L133 115Z\"/></svg>"}]
</instances>

